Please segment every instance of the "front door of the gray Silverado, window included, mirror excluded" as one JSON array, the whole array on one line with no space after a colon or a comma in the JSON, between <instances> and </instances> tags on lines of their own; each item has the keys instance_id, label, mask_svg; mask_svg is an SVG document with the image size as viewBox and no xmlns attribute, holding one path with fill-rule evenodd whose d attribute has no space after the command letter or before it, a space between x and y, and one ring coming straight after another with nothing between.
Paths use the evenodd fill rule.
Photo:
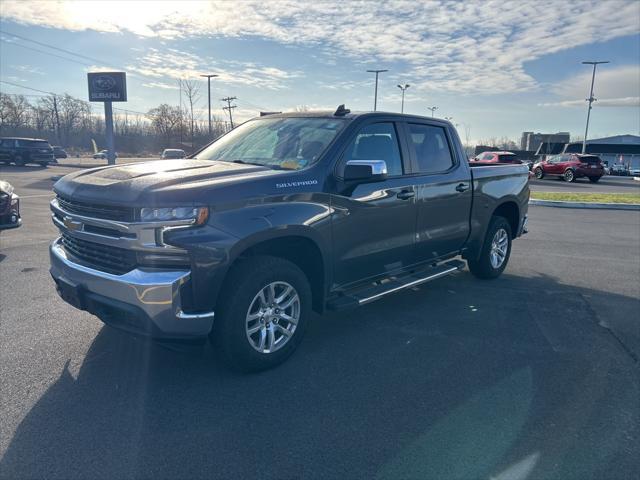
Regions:
<instances>
[{"instance_id":1,"label":"front door of the gray Silverado, window included, mirror excluded","mask_svg":"<svg viewBox=\"0 0 640 480\"><path fill-rule=\"evenodd\" d=\"M416 198L413 180L405 174L406 156L394 122L365 125L350 140L338 163L338 178L349 160L384 160L388 178L342 185L332 194L334 286L386 274L412 263Z\"/></svg>"}]
</instances>

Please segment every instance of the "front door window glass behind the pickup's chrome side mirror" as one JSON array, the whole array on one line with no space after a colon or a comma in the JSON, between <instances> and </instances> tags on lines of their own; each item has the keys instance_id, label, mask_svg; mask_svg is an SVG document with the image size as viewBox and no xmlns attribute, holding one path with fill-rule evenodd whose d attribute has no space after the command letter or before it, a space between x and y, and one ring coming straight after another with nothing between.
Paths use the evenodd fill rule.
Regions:
<instances>
[{"instance_id":1,"label":"front door window glass behind the pickup's chrome side mirror","mask_svg":"<svg viewBox=\"0 0 640 480\"><path fill-rule=\"evenodd\" d=\"M384 160L390 177L402 175L402 158L393 123L374 123L363 127L347 147L342 170L349 160Z\"/></svg>"}]
</instances>

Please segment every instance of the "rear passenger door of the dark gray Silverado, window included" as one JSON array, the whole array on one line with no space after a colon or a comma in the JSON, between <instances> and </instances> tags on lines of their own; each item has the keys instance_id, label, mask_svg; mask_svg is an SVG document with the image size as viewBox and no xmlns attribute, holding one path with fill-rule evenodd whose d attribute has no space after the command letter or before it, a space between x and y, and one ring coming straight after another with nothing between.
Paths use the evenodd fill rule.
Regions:
<instances>
[{"instance_id":1,"label":"rear passenger door of the dark gray Silverado, window included","mask_svg":"<svg viewBox=\"0 0 640 480\"><path fill-rule=\"evenodd\" d=\"M471 174L445 125L408 122L403 130L417 194L415 258L433 260L459 251L467 240Z\"/></svg>"}]
</instances>

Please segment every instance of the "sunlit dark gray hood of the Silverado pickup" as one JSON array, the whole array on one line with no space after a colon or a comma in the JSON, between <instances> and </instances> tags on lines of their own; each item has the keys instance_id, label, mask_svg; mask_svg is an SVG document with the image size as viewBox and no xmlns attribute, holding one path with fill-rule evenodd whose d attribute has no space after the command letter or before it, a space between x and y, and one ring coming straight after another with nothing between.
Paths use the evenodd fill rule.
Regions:
<instances>
[{"instance_id":1,"label":"sunlit dark gray hood of the Silverado pickup","mask_svg":"<svg viewBox=\"0 0 640 480\"><path fill-rule=\"evenodd\" d=\"M104 205L206 205L214 200L212 190L237 190L239 184L268 181L283 173L287 172L230 162L161 160L82 170L58 180L53 190L76 201Z\"/></svg>"}]
</instances>

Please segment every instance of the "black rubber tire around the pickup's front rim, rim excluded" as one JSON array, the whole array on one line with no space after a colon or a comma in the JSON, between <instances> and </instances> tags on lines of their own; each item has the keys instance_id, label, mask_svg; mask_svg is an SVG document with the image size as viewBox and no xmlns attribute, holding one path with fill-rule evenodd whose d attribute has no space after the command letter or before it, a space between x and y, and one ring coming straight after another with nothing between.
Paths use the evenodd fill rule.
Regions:
<instances>
[{"instance_id":1,"label":"black rubber tire around the pickup's front rim, rim excluded","mask_svg":"<svg viewBox=\"0 0 640 480\"><path fill-rule=\"evenodd\" d=\"M300 300L300 318L280 349L263 353L249 342L246 318L256 295L272 282L286 282L295 289ZM250 257L233 268L225 284L211 332L214 348L225 363L236 370L258 372L289 358L300 344L311 314L311 287L302 270L282 258Z\"/></svg>"}]
</instances>

